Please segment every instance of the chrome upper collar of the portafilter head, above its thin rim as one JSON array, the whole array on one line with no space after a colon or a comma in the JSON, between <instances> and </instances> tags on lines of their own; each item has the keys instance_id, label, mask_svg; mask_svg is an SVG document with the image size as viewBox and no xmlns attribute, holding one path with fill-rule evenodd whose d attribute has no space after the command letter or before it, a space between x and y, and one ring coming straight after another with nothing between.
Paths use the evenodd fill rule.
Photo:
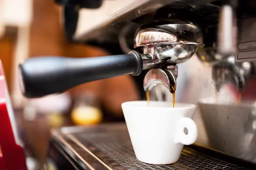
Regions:
<instances>
[{"instance_id":1,"label":"chrome upper collar of the portafilter head, above its thin rim","mask_svg":"<svg viewBox=\"0 0 256 170\"><path fill-rule=\"evenodd\" d=\"M201 29L189 22L168 20L165 25L156 25L153 28L139 29L136 32L134 48L151 46L154 44L193 44L203 45Z\"/></svg>"}]
</instances>

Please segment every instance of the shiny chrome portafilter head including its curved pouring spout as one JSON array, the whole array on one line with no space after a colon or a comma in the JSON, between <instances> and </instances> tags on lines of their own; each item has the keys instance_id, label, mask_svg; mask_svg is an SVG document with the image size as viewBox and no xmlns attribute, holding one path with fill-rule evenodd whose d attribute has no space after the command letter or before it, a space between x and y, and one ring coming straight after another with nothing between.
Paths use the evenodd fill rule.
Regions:
<instances>
[{"instance_id":1,"label":"shiny chrome portafilter head including its curved pouring spout","mask_svg":"<svg viewBox=\"0 0 256 170\"><path fill-rule=\"evenodd\" d=\"M144 78L145 91L151 91L156 84L163 84L174 93L177 78L175 65L191 58L197 46L204 46L198 26L179 20L168 22L166 25L156 24L151 28L139 29L135 34L134 48L143 49L143 69L167 65L167 68L163 67L164 71L152 69L147 73Z\"/></svg>"}]
</instances>

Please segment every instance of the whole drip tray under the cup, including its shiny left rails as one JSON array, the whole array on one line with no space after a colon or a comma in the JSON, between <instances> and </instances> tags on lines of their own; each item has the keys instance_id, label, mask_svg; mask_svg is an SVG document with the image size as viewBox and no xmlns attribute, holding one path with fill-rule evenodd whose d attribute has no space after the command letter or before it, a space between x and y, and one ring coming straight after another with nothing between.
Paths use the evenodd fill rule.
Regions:
<instances>
[{"instance_id":1,"label":"whole drip tray under the cup, including its shiny left rails","mask_svg":"<svg viewBox=\"0 0 256 170\"><path fill-rule=\"evenodd\" d=\"M248 169L184 147L173 164L146 164L136 159L125 124L65 127L52 131L52 139L84 169L94 170L211 170Z\"/></svg>"}]
</instances>

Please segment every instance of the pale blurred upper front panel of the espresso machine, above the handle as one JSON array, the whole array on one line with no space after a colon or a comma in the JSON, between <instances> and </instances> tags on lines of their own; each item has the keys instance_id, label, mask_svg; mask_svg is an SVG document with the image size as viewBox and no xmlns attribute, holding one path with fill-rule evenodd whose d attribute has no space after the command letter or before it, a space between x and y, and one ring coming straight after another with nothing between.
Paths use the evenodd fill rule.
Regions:
<instances>
[{"instance_id":1,"label":"pale blurred upper front panel of the espresso machine, above the handle","mask_svg":"<svg viewBox=\"0 0 256 170\"><path fill-rule=\"evenodd\" d=\"M79 10L79 19L73 40L80 42L92 39L118 41L120 28L124 25L127 25L127 23L135 18L154 12L174 1L103 0L102 6L99 9ZM113 37L113 35L115 36Z\"/></svg>"}]
</instances>

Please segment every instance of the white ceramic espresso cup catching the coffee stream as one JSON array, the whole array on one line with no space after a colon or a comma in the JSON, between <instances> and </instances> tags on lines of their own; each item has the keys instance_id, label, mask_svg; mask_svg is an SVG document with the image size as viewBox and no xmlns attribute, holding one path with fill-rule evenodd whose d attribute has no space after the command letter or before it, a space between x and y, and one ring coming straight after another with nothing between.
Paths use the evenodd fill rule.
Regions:
<instances>
[{"instance_id":1,"label":"white ceramic espresso cup catching the coffee stream","mask_svg":"<svg viewBox=\"0 0 256 170\"><path fill-rule=\"evenodd\" d=\"M149 164L176 162L183 145L193 144L198 130L194 104L128 101L122 110L136 158ZM187 129L187 135L184 130Z\"/></svg>"}]
</instances>

